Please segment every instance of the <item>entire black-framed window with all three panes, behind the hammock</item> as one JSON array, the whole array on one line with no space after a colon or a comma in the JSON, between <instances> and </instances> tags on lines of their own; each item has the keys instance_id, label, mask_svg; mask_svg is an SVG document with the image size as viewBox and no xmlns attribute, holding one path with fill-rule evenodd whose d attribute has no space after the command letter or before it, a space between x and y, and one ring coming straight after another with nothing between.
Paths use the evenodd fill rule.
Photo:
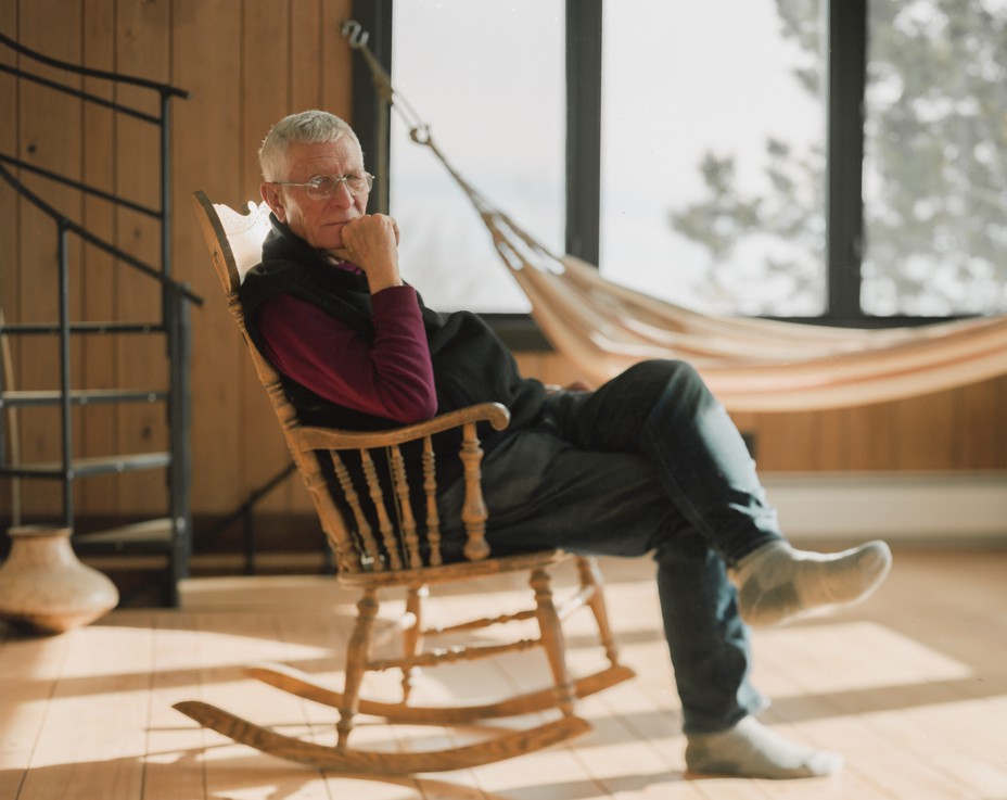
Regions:
<instances>
[{"instance_id":1,"label":"entire black-framed window with all three panes, behind the hammock","mask_svg":"<svg viewBox=\"0 0 1007 800\"><path fill-rule=\"evenodd\" d=\"M839 323L1007 310L1007 0L375 5L459 170L612 281ZM410 279L431 305L525 309L393 125Z\"/></svg>"}]
</instances>

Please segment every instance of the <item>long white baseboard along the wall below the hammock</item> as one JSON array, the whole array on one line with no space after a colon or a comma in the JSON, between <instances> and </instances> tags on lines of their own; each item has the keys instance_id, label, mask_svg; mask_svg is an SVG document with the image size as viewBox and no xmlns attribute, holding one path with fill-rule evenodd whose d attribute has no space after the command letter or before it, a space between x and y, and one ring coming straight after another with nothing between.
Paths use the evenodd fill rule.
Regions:
<instances>
[{"instance_id":1,"label":"long white baseboard along the wall below the hammock","mask_svg":"<svg viewBox=\"0 0 1007 800\"><path fill-rule=\"evenodd\" d=\"M793 541L1007 545L1007 473L761 475Z\"/></svg>"}]
</instances>

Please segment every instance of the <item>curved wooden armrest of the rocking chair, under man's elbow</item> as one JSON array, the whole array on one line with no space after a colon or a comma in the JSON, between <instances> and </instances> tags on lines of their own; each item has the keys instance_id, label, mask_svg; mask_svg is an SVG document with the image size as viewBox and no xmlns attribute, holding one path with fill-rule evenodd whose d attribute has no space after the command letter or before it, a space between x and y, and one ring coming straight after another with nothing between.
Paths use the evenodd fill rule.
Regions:
<instances>
[{"instance_id":1,"label":"curved wooden armrest of the rocking chair, under man's elbow","mask_svg":"<svg viewBox=\"0 0 1007 800\"><path fill-rule=\"evenodd\" d=\"M292 444L299 450L359 449L387 447L423 439L471 422L489 422L494 430L502 431L510 423L510 411L499 403L480 403L442 414L425 422L417 422L385 431L345 431L336 428L295 428L289 431Z\"/></svg>"}]
</instances>

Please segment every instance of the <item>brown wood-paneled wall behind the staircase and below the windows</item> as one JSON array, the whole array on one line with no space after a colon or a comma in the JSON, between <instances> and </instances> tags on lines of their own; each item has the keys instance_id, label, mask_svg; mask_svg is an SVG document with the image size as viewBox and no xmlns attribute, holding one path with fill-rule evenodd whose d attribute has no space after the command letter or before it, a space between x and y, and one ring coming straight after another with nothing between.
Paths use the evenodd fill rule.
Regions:
<instances>
[{"instance_id":1,"label":"brown wood-paneled wall behind the staircase and below the windows","mask_svg":"<svg viewBox=\"0 0 1007 800\"><path fill-rule=\"evenodd\" d=\"M256 151L269 126L291 111L320 106L349 117L350 52L340 25L350 0L0 0L0 29L25 46L89 67L131 74L187 89L173 105L174 272L206 299L194 308L192 503L196 515L227 513L286 462L266 398L239 341L191 212L191 193L206 191L239 206L257 198ZM16 62L10 55L8 63ZM102 81L80 86L109 96ZM148 102L132 90L117 100ZM156 141L135 122L107 110L0 74L0 149L17 157L156 204ZM153 106L151 111L153 111ZM156 261L149 220L114 211L79 192L25 181L71 218L140 257ZM54 313L51 223L0 187L0 306L10 321L40 321ZM75 245L75 301L80 319L143 319L155 294L93 249ZM20 388L51 383L51 346L14 346ZM570 368L559 356L520 354L530 374L562 383ZM74 351L81 386L157 383L162 358L149 343L90 338ZM765 470L971 470L1007 468L1007 379L904 403L836 411L742 415L755 435ZM144 449L165 435L161 407L79 412L85 454ZM52 419L22 415L22 458L54 458ZM79 497L92 515L154 510L162 478L90 480ZM0 510L9 504L0 486ZM28 488L26 510L51 503ZM296 481L265 503L273 513L308 511Z\"/></svg>"}]
</instances>

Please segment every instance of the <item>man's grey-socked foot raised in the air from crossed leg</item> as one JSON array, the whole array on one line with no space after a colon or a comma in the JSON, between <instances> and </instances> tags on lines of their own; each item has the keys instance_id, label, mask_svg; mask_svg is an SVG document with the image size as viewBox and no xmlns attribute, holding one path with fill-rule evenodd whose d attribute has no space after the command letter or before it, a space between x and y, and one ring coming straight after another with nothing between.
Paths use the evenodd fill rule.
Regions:
<instances>
[{"instance_id":1,"label":"man's grey-socked foot raised in the air from crossed leg","mask_svg":"<svg viewBox=\"0 0 1007 800\"><path fill-rule=\"evenodd\" d=\"M826 606L859 602L881 585L891 566L884 542L836 554L772 542L738 564L741 619L753 626L779 625Z\"/></svg>"}]
</instances>

